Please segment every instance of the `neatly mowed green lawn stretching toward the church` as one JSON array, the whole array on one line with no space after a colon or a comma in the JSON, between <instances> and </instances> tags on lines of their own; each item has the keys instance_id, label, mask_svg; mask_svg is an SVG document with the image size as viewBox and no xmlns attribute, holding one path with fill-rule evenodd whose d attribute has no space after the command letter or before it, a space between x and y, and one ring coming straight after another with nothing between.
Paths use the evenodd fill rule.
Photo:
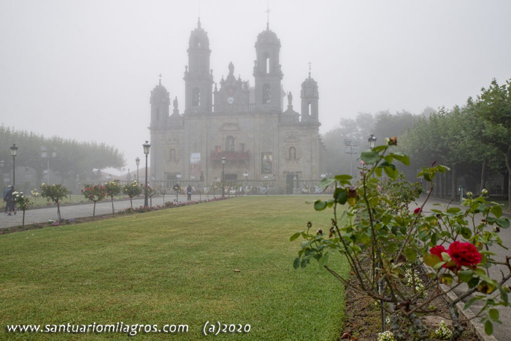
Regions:
<instances>
[{"instance_id":1,"label":"neatly mowed green lawn stretching toward the church","mask_svg":"<svg viewBox=\"0 0 511 341\"><path fill-rule=\"evenodd\" d=\"M334 340L343 289L317 262L293 269L306 229L328 231L314 197L238 197L0 236L0 339L127 339L123 333L7 333L11 324L249 324L215 339ZM331 263L346 275L342 257ZM235 269L240 270L239 272ZM211 336L208 336L211 337Z\"/></svg>"}]
</instances>

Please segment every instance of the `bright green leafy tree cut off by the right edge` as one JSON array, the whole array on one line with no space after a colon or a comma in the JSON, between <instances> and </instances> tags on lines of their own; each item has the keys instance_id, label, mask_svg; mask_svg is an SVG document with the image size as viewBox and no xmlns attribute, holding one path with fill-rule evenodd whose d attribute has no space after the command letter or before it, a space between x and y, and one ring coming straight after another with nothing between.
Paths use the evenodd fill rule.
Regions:
<instances>
[{"instance_id":1,"label":"bright green leafy tree cut off by the right edge","mask_svg":"<svg viewBox=\"0 0 511 341\"><path fill-rule=\"evenodd\" d=\"M477 96L476 109L483 120L483 134L505 156L508 172L508 203L511 210L511 79L499 85L493 80L490 86L481 89Z\"/></svg>"}]
</instances>

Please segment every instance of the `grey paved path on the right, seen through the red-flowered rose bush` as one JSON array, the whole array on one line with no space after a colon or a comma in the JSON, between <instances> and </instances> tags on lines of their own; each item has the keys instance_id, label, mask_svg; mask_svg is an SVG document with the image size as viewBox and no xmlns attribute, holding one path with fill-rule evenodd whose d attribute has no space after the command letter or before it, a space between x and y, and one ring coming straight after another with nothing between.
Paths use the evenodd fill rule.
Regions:
<instances>
[{"instance_id":1,"label":"grey paved path on the right, seen through the red-flowered rose bush","mask_svg":"<svg viewBox=\"0 0 511 341\"><path fill-rule=\"evenodd\" d=\"M421 201L418 201L418 203L419 202L421 202ZM442 206L434 206L433 204L435 204L435 203L439 203ZM443 207L445 208L446 205L447 205L446 201L430 199L428 201L428 203L426 204L426 206L424 207L424 211L427 214L428 211L431 211L431 209L437 209L437 210L442 209ZM457 207L460 207L461 209L465 208L463 206L460 206L457 203L451 203L451 206L457 206ZM481 214L477 215L476 217L477 217L476 223L478 221L481 221L481 219L482 219ZM511 247L511 228L505 229L505 230L501 229L499 232L499 236L502 239L503 245ZM490 251L497 254L496 259L498 261L504 261L506 256L511 255L510 250L506 250L498 245L494 245L494 246L490 247ZM507 274L507 268L503 267L503 272L504 272L504 274ZM490 276L491 276L491 278L494 278L494 279L501 278L499 267L492 266L490 268ZM507 285L511 286L511 280L508 280L506 283L507 283ZM456 288L456 290L454 290L454 292L457 295L460 295L460 294L466 292L467 289L468 289L468 286L463 285L463 286ZM463 302L467 302L469 299L470 299L470 297L463 300ZM478 301L478 302L480 302L480 301ZM479 309L482 307L482 305L477 304L478 302L475 302L470 308L474 313L477 313L479 311ZM497 309L499 310L499 313L500 313L499 317L500 317L500 321L502 321L502 325L499 325L496 323L493 324L493 328L494 328L493 336L495 336L495 338L497 340L502 340L502 341L506 340L507 341L507 340L511 339L511 337L509 336L509 335L511 335L511 324L509 323L509 322L511 322L511 307L501 307L500 306Z\"/></svg>"}]
</instances>

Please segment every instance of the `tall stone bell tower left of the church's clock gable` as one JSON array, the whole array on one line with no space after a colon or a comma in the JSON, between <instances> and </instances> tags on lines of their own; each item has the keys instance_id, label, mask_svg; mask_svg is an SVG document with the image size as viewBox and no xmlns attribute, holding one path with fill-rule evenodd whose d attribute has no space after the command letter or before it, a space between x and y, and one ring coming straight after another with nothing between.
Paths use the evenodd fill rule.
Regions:
<instances>
[{"instance_id":1,"label":"tall stone bell tower left of the church's clock gable","mask_svg":"<svg viewBox=\"0 0 511 341\"><path fill-rule=\"evenodd\" d=\"M184 113L211 112L213 70L210 70L210 40L200 26L190 34L188 66L184 71Z\"/></svg>"}]
</instances>

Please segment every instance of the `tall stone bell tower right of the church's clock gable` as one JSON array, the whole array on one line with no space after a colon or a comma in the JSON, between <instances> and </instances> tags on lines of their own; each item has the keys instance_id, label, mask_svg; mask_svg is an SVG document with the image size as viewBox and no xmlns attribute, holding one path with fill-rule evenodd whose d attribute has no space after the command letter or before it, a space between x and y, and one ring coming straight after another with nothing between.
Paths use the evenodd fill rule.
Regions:
<instances>
[{"instance_id":1,"label":"tall stone bell tower right of the church's clock gable","mask_svg":"<svg viewBox=\"0 0 511 341\"><path fill-rule=\"evenodd\" d=\"M281 51L281 41L277 35L270 30L266 24L266 30L261 32L255 42L254 72L255 78L255 106L265 107L267 110L278 110L281 108L281 80L283 73L278 55Z\"/></svg>"}]
</instances>

